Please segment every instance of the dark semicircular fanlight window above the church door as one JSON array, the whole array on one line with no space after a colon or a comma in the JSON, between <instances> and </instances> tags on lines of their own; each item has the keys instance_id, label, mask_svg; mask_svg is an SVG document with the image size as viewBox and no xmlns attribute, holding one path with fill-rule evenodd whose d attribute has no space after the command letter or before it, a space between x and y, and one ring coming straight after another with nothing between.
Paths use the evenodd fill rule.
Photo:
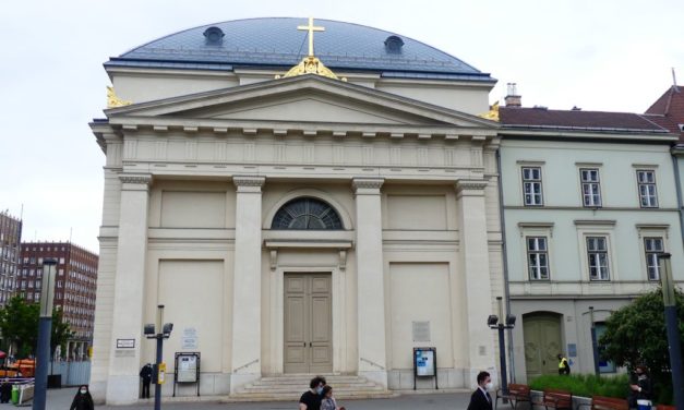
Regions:
<instances>
[{"instance_id":1,"label":"dark semicircular fanlight window above the church door","mask_svg":"<svg viewBox=\"0 0 684 410\"><path fill-rule=\"evenodd\" d=\"M271 229L344 229L337 212L327 203L313 197L297 197L278 209Z\"/></svg>"}]
</instances>

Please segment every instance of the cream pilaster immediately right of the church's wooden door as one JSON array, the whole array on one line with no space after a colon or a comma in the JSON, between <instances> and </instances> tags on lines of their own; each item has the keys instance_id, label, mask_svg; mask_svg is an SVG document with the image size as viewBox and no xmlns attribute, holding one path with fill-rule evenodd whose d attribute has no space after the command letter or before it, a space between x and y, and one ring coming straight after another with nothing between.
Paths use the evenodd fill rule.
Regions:
<instances>
[{"instance_id":1,"label":"cream pilaster immediately right of the church's wooden door","mask_svg":"<svg viewBox=\"0 0 684 410\"><path fill-rule=\"evenodd\" d=\"M359 375L387 387L385 296L380 188L383 179L355 178Z\"/></svg>"}]
</instances>

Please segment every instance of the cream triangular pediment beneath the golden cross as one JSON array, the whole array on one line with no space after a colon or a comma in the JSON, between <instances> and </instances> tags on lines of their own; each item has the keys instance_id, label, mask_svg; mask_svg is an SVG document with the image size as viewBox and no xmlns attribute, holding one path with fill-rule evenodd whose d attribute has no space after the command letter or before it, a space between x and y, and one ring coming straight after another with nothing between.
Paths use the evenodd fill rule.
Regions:
<instances>
[{"instance_id":1,"label":"cream triangular pediment beneath the golden cross","mask_svg":"<svg viewBox=\"0 0 684 410\"><path fill-rule=\"evenodd\" d=\"M479 117L316 75L133 104L107 110L106 113L110 119L154 117L485 129L496 126Z\"/></svg>"}]
</instances>

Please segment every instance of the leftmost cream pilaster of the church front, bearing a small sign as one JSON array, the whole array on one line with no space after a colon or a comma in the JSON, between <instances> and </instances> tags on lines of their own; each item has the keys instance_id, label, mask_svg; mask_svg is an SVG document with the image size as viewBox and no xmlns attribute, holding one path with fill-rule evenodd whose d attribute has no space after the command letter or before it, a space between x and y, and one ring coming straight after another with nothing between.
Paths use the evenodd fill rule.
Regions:
<instances>
[{"instance_id":1,"label":"leftmost cream pilaster of the church front, bearing a small sign","mask_svg":"<svg viewBox=\"0 0 684 410\"><path fill-rule=\"evenodd\" d=\"M107 403L131 405L137 401L140 353L144 340L142 322L152 176L121 174L119 178L121 207ZM117 339L133 339L134 347L117 349Z\"/></svg>"}]
</instances>

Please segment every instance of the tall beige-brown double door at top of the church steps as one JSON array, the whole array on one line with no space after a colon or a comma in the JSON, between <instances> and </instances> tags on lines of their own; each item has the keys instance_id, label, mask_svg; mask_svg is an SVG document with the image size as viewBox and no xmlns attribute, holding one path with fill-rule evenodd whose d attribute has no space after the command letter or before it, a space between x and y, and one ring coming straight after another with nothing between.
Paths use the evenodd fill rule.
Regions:
<instances>
[{"instance_id":1,"label":"tall beige-brown double door at top of the church steps","mask_svg":"<svg viewBox=\"0 0 684 410\"><path fill-rule=\"evenodd\" d=\"M285 274L285 373L333 371L331 274Z\"/></svg>"}]
</instances>

